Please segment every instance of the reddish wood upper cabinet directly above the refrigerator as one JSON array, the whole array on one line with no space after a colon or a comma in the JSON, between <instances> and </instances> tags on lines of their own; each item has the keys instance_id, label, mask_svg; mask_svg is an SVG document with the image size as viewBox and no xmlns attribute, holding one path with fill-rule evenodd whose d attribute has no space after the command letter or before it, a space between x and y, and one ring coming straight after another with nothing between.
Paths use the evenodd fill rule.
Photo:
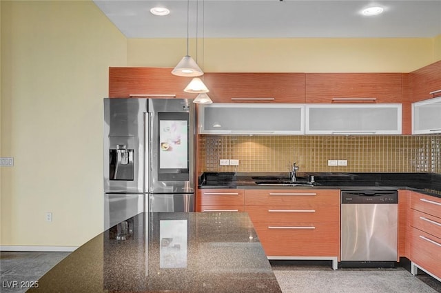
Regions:
<instances>
[{"instance_id":1,"label":"reddish wood upper cabinet directly above the refrigerator","mask_svg":"<svg viewBox=\"0 0 441 293\"><path fill-rule=\"evenodd\" d=\"M109 97L156 97L194 99L184 92L191 77L176 77L173 68L109 68Z\"/></svg>"}]
</instances>

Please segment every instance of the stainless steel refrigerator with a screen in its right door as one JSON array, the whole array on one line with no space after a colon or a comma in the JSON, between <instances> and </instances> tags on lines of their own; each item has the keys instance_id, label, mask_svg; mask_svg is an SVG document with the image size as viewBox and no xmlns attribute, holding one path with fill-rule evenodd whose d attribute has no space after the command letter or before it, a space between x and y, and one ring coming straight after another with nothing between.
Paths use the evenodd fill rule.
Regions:
<instances>
[{"instance_id":1,"label":"stainless steel refrigerator with a screen in its right door","mask_svg":"<svg viewBox=\"0 0 441 293\"><path fill-rule=\"evenodd\" d=\"M104 228L140 212L194 211L194 104L104 99Z\"/></svg>"}]
</instances>

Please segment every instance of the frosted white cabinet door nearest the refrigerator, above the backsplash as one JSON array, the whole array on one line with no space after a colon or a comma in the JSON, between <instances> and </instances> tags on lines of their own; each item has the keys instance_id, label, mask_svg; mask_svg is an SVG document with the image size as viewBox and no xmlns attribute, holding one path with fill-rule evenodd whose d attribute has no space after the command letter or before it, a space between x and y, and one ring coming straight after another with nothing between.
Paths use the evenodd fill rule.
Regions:
<instances>
[{"instance_id":1,"label":"frosted white cabinet door nearest the refrigerator, above the backsplash","mask_svg":"<svg viewBox=\"0 0 441 293\"><path fill-rule=\"evenodd\" d=\"M305 106L210 104L199 109L201 134L305 134Z\"/></svg>"}]
</instances>

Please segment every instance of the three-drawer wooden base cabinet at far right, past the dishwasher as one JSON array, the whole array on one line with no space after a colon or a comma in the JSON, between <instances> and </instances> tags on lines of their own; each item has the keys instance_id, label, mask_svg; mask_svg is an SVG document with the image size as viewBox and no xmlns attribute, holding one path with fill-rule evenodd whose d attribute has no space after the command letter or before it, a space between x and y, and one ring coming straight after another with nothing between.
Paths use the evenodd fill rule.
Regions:
<instances>
[{"instance_id":1,"label":"three-drawer wooden base cabinet at far right, past the dishwasher","mask_svg":"<svg viewBox=\"0 0 441 293\"><path fill-rule=\"evenodd\" d=\"M409 241L412 272L441 280L441 198L411 192Z\"/></svg>"}]
</instances>

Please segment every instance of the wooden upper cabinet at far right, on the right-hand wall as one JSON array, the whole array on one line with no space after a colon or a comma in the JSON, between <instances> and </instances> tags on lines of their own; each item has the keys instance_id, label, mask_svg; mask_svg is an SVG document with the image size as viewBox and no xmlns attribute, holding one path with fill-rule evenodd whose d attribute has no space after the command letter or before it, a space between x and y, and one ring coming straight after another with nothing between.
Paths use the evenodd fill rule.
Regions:
<instances>
[{"instance_id":1,"label":"wooden upper cabinet at far right, on the right-hand wall","mask_svg":"<svg viewBox=\"0 0 441 293\"><path fill-rule=\"evenodd\" d=\"M441 96L441 61L413 71L409 76L411 101Z\"/></svg>"}]
</instances>

